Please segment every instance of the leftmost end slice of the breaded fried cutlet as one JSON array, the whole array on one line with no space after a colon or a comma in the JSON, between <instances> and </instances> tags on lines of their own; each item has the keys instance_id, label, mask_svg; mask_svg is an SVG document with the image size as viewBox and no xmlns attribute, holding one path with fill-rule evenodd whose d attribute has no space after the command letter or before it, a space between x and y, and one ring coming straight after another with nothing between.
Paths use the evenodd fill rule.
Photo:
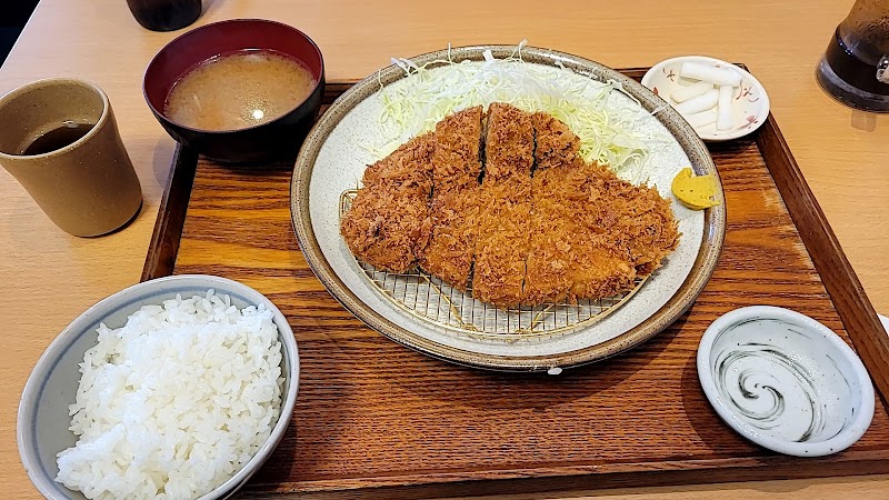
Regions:
<instances>
[{"instance_id":1,"label":"leftmost end slice of the breaded fried cutlet","mask_svg":"<svg viewBox=\"0 0 889 500\"><path fill-rule=\"evenodd\" d=\"M368 167L363 188L340 226L349 250L360 260L392 272L417 264L430 234L431 133L412 139Z\"/></svg>"}]
</instances>

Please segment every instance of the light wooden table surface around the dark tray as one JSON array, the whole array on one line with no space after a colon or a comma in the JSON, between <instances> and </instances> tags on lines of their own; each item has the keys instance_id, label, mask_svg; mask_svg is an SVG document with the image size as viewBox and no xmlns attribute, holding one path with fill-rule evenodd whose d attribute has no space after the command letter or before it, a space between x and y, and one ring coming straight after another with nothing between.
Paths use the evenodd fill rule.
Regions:
<instances>
[{"instance_id":1,"label":"light wooden table surface around the dark tray","mask_svg":"<svg viewBox=\"0 0 889 500\"><path fill-rule=\"evenodd\" d=\"M768 90L778 124L870 300L878 312L889 312L889 116L845 108L813 78L852 0L383 3L204 0L194 26L264 18L298 27L324 53L329 80L362 78L390 57L448 42L518 43L523 38L616 68L693 53L745 62ZM146 31L123 0L42 0L0 69L0 93L47 77L102 87L144 192L144 207L131 226L79 239L57 229L0 171L0 317L7 339L0 353L0 491L6 498L39 497L16 447L19 397L34 362L80 312L139 281L174 148L144 103L141 79L151 57L179 33ZM863 499L886 498L889 477L860 477L510 498Z\"/></svg>"}]
</instances>

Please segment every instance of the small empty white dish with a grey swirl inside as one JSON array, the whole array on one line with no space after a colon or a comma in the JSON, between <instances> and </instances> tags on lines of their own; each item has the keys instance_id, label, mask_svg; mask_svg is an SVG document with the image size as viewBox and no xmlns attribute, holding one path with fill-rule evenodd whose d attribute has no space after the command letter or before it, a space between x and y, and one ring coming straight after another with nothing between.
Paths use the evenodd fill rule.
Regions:
<instances>
[{"instance_id":1,"label":"small empty white dish with a grey swirl inside","mask_svg":"<svg viewBox=\"0 0 889 500\"><path fill-rule=\"evenodd\" d=\"M698 348L698 377L722 420L786 454L839 452L873 417L873 387L856 353L788 309L756 306L717 319Z\"/></svg>"}]
</instances>

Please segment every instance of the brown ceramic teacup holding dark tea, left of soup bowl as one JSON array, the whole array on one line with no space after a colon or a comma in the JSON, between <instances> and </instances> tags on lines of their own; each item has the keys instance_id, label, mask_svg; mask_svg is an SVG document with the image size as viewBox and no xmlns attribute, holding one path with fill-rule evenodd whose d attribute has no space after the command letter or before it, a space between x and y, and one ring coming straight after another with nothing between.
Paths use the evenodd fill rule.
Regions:
<instances>
[{"instance_id":1,"label":"brown ceramic teacup holding dark tea, left of soup bowl","mask_svg":"<svg viewBox=\"0 0 889 500\"><path fill-rule=\"evenodd\" d=\"M139 178L108 96L53 78L0 98L0 164L56 226L79 237L111 232L142 206Z\"/></svg>"}]
</instances>

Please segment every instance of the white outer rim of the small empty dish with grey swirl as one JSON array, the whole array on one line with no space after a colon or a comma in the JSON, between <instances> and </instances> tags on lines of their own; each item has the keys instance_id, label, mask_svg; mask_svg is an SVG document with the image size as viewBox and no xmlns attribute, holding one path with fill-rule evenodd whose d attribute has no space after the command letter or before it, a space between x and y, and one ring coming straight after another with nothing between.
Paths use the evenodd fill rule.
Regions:
<instances>
[{"instance_id":1,"label":"white outer rim of the small empty dish with grey swirl","mask_svg":"<svg viewBox=\"0 0 889 500\"><path fill-rule=\"evenodd\" d=\"M783 319L813 330L821 334L825 343L836 349L849 362L849 366L851 367L856 377L856 381L861 388L861 407L859 408L858 416L847 429L843 429L837 436L825 441L785 441L756 432L752 428L750 428L750 426L747 426L740 421L735 411L730 410L728 406L722 402L722 400L719 398L719 391L717 390L716 381L713 380L713 374L710 370L710 354L713 349L713 343L728 327L755 318ZM861 359L858 358L858 354L856 354L852 348L850 348L831 329L806 314L790 309L775 306L749 306L746 308L735 309L733 311L729 311L720 316L716 319L716 321L710 323L710 327L707 328L701 337L701 341L698 346L697 368L698 379L701 383L701 388L703 389L703 393L707 396L707 400L710 401L710 404L713 407L719 417L736 432L743 436L749 441L779 453L790 454L793 457L823 457L827 454L838 453L861 439L861 437L865 436L865 432L870 427L871 420L873 419L873 386L871 384L868 371L865 368L865 364L861 362Z\"/></svg>"}]
</instances>

